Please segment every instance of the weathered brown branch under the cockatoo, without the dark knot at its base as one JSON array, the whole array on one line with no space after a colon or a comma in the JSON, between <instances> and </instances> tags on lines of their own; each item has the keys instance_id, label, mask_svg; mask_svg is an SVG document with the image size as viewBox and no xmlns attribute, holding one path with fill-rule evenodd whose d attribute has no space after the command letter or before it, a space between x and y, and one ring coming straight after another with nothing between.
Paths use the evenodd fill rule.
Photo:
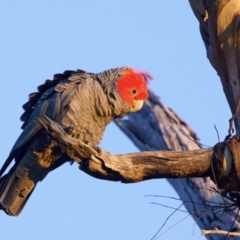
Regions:
<instances>
[{"instance_id":1,"label":"weathered brown branch under the cockatoo, without the dark knot at its base","mask_svg":"<svg viewBox=\"0 0 240 240\"><path fill-rule=\"evenodd\" d=\"M47 116L39 122L67 155L89 175L111 181L133 183L156 178L212 176L213 149L189 152L149 151L112 155L98 153L82 141L69 136Z\"/></svg>"}]
</instances>

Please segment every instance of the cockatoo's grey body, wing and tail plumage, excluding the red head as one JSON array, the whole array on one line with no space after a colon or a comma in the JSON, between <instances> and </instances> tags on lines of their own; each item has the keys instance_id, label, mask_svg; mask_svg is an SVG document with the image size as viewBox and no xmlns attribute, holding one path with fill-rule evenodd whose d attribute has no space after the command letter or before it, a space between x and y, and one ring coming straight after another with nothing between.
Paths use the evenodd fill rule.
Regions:
<instances>
[{"instance_id":1,"label":"cockatoo's grey body, wing and tail plumage, excluding the red head","mask_svg":"<svg viewBox=\"0 0 240 240\"><path fill-rule=\"evenodd\" d=\"M47 135L38 122L41 115L61 124L73 137L92 147L101 141L106 125L116 117L131 112L121 100L116 82L127 68L99 74L82 70L54 75L38 87L23 105L23 132L0 170L0 209L17 216L39 181L53 169L70 160Z\"/></svg>"}]
</instances>

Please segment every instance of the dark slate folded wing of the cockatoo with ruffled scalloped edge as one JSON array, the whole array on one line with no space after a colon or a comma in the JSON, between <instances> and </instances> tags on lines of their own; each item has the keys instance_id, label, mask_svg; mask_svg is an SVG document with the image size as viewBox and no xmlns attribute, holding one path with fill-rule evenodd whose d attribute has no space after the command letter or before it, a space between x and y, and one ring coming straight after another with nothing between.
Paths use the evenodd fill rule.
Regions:
<instances>
[{"instance_id":1,"label":"dark slate folded wing of the cockatoo with ruffled scalloped edge","mask_svg":"<svg viewBox=\"0 0 240 240\"><path fill-rule=\"evenodd\" d=\"M22 125L23 131L3 164L0 176L2 176L14 158L16 162L21 160L21 157L27 151L29 142L42 129L38 118L46 115L50 119L55 120L61 109L69 103L72 94L75 92L76 85L83 82L85 78L85 71L67 70L62 74L55 74L53 80L46 80L44 84L38 87L38 92L29 95L29 101L23 105L25 111L20 117L24 122Z\"/></svg>"}]
</instances>

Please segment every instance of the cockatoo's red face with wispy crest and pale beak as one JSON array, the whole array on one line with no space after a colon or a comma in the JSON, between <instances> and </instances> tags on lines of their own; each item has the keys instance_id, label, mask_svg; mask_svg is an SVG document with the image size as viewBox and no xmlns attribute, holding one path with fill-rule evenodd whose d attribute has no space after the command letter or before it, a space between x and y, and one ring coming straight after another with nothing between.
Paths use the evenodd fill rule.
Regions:
<instances>
[{"instance_id":1,"label":"cockatoo's red face with wispy crest and pale beak","mask_svg":"<svg viewBox=\"0 0 240 240\"><path fill-rule=\"evenodd\" d=\"M116 87L122 101L128 104L130 112L136 112L148 98L148 83L152 76L148 72L126 68L118 79Z\"/></svg>"}]
</instances>

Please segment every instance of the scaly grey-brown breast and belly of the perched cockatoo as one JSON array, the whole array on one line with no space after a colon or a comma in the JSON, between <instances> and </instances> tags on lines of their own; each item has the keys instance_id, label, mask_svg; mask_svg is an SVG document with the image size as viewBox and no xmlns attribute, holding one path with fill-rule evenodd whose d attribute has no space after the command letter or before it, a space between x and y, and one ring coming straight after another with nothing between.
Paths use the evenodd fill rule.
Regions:
<instances>
[{"instance_id":1,"label":"scaly grey-brown breast and belly of the perched cockatoo","mask_svg":"<svg viewBox=\"0 0 240 240\"><path fill-rule=\"evenodd\" d=\"M72 137L95 147L101 141L105 127L112 117L101 114L103 109L108 107L104 106L104 95L99 86L94 83L86 83L86 85L91 86L84 84L76 86L71 101L65 106L61 124L63 127L72 125L73 130L69 133Z\"/></svg>"}]
</instances>

